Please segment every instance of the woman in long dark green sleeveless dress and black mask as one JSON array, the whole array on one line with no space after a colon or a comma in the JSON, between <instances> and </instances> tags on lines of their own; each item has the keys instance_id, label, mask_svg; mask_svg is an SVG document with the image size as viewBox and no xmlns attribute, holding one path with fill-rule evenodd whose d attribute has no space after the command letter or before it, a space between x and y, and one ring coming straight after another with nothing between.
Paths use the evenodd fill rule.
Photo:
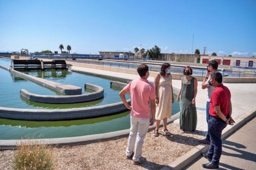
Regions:
<instances>
[{"instance_id":1,"label":"woman in long dark green sleeveless dress and black mask","mask_svg":"<svg viewBox=\"0 0 256 170\"><path fill-rule=\"evenodd\" d=\"M180 129L195 131L197 128L197 79L192 77L193 70L186 66L181 78L181 89L177 101L180 101Z\"/></svg>"}]
</instances>

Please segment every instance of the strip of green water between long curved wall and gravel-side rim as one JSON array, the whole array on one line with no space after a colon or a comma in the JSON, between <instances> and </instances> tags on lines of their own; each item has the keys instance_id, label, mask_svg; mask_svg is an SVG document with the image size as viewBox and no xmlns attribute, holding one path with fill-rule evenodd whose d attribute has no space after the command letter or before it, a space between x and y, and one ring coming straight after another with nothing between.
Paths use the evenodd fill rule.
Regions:
<instances>
[{"instance_id":1,"label":"strip of green water between long curved wall and gravel-side rim","mask_svg":"<svg viewBox=\"0 0 256 170\"><path fill-rule=\"evenodd\" d=\"M0 139L74 137L129 129L129 113L53 122L0 118Z\"/></svg>"}]
</instances>

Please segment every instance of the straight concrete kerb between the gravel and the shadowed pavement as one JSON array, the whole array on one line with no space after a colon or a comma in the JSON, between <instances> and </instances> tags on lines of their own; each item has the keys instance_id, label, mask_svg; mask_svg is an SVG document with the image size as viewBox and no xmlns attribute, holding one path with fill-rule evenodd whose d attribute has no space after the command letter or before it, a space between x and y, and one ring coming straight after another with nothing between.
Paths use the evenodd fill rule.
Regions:
<instances>
[{"instance_id":1,"label":"straight concrete kerb between the gravel and the shadowed pavement","mask_svg":"<svg viewBox=\"0 0 256 170\"><path fill-rule=\"evenodd\" d=\"M256 115L256 107L251 109L250 113L244 113L240 118L236 119L236 124L233 126L228 125L222 132L221 139L226 138L228 135L235 132L237 129L242 127L245 123L248 122L252 117ZM167 166L161 168L161 170L179 170L187 166L189 163L196 160L199 156L201 156L201 153L205 153L209 149L209 145L205 144L199 144L190 151L188 151L186 154L182 155L175 161L169 163Z\"/></svg>"}]
</instances>

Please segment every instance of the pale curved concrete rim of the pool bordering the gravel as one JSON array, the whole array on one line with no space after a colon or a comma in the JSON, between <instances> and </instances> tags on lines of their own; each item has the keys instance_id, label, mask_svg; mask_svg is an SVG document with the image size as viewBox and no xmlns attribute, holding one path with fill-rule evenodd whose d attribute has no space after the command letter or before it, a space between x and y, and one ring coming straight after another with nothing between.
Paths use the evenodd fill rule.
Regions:
<instances>
[{"instance_id":1,"label":"pale curved concrete rim of the pool bordering the gravel","mask_svg":"<svg viewBox=\"0 0 256 170\"><path fill-rule=\"evenodd\" d=\"M167 120L167 124L174 122L179 118L179 113L172 115L170 119ZM162 123L160 124L162 126ZM151 131L156 128L156 124L150 126L148 131ZM100 141L107 141L118 139L122 137L127 137L130 134L130 129L124 129L115 132L94 134L94 135L85 135L85 136L76 136L76 137L64 137L64 138L49 138L49 139L22 139L24 142L28 140L37 141L43 144L53 145L54 147L61 147L64 145L79 145L94 143ZM16 145L20 143L20 139L17 140L0 140L0 151L1 150L13 150L16 149Z\"/></svg>"}]
</instances>

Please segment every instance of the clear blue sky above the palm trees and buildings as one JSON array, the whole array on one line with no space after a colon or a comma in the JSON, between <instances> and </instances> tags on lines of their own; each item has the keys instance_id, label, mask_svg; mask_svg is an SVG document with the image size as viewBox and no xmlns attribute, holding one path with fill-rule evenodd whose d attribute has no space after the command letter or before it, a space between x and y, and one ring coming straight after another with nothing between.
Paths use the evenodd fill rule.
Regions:
<instances>
[{"instance_id":1,"label":"clear blue sky above the palm trees and buildings","mask_svg":"<svg viewBox=\"0 0 256 170\"><path fill-rule=\"evenodd\" d=\"M0 0L0 51L134 51L256 55L256 1Z\"/></svg>"}]
</instances>

